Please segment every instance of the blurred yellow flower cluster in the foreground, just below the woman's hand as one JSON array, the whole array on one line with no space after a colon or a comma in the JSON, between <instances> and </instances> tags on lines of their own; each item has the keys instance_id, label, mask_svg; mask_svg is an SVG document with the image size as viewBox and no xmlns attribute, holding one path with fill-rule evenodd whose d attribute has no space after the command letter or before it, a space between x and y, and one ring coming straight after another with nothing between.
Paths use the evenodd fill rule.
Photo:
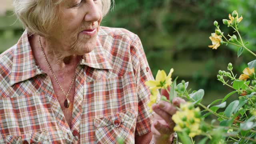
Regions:
<instances>
[{"instance_id":1,"label":"blurred yellow flower cluster in the foreground, just below the woman's hand","mask_svg":"<svg viewBox=\"0 0 256 144\"><path fill-rule=\"evenodd\" d=\"M172 116L172 120L176 124L174 131L181 132L186 130L190 137L201 134L201 120L195 114L198 112L200 112L200 108L194 108L194 106L189 102L180 104L180 111L177 111L176 114Z\"/></svg>"}]
</instances>

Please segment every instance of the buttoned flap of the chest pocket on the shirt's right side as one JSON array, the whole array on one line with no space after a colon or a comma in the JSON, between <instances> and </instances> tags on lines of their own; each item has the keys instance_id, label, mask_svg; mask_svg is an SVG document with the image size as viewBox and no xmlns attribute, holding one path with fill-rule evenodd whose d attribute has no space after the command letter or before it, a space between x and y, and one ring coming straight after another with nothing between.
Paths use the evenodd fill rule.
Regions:
<instances>
[{"instance_id":1,"label":"buttoned flap of the chest pocket on the shirt's right side","mask_svg":"<svg viewBox=\"0 0 256 144\"><path fill-rule=\"evenodd\" d=\"M98 128L102 126L120 125L120 123L134 118L136 118L134 110L127 110L108 117L96 118L94 119L94 126ZM115 121L120 123L116 123Z\"/></svg>"}]
</instances>

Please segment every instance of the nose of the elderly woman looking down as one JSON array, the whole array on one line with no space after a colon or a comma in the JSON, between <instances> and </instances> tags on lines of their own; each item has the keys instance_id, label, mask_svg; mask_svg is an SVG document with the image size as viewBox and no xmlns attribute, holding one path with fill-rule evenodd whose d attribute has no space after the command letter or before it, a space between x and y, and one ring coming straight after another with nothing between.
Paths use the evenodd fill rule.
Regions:
<instances>
[{"instance_id":1,"label":"nose of the elderly woman looking down","mask_svg":"<svg viewBox=\"0 0 256 144\"><path fill-rule=\"evenodd\" d=\"M96 4L94 0L88 0L88 6L86 7L87 13L84 16L84 20L87 22L96 22L100 20L101 10L100 4Z\"/></svg>"}]
</instances>

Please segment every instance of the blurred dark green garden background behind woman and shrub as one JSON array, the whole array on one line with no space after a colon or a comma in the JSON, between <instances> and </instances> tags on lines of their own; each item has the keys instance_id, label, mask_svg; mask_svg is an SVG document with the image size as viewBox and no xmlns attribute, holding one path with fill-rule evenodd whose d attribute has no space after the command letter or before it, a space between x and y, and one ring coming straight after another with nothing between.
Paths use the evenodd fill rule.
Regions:
<instances>
[{"instance_id":1,"label":"blurred dark green garden background behind woman and shrub","mask_svg":"<svg viewBox=\"0 0 256 144\"><path fill-rule=\"evenodd\" d=\"M22 34L22 26L13 16L11 1L0 7L0 53L15 44ZM218 70L226 70L232 62L238 76L253 60L250 54L237 59L235 47L208 48L209 36L214 32L214 20L225 35L232 30L222 24L228 14L237 10L244 20L239 25L244 41L256 50L256 0L115 0L115 7L102 21L103 26L126 28L140 37L150 68L174 68L174 76L189 81L189 88L205 90L204 104L224 97L231 90L216 80ZM2 4L2 6L4 5Z\"/></svg>"}]
</instances>

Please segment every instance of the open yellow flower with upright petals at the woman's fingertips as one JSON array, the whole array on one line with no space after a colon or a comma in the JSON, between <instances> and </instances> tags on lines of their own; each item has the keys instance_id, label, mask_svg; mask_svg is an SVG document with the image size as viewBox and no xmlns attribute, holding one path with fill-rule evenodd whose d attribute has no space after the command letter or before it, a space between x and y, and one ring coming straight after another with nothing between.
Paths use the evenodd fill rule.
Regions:
<instances>
[{"instance_id":1,"label":"open yellow flower with upright petals at the woman's fingertips","mask_svg":"<svg viewBox=\"0 0 256 144\"><path fill-rule=\"evenodd\" d=\"M156 80L148 80L145 82L145 84L150 87L150 90L167 88L168 86L170 86L172 84L171 76L172 76L173 71L174 70L172 68L170 70L168 76L166 76L166 73L164 72L164 70L158 70L158 72L156 74Z\"/></svg>"}]
</instances>

